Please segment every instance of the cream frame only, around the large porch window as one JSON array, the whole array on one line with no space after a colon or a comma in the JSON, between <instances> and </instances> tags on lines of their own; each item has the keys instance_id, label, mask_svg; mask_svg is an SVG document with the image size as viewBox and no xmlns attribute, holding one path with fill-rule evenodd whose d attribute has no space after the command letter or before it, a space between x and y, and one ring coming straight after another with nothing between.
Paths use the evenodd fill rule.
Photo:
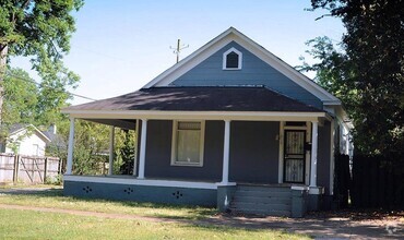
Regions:
<instances>
[{"instance_id":1,"label":"cream frame only, around the large porch window","mask_svg":"<svg viewBox=\"0 0 404 240\"><path fill-rule=\"evenodd\" d=\"M200 154L199 163L183 163L177 160L177 136L178 136L178 122L199 122L201 123L201 135L200 135ZM203 152L205 142L205 121L201 120L174 120L173 121L173 140L171 140L171 166L187 166L187 167L203 167Z\"/></svg>"}]
</instances>

